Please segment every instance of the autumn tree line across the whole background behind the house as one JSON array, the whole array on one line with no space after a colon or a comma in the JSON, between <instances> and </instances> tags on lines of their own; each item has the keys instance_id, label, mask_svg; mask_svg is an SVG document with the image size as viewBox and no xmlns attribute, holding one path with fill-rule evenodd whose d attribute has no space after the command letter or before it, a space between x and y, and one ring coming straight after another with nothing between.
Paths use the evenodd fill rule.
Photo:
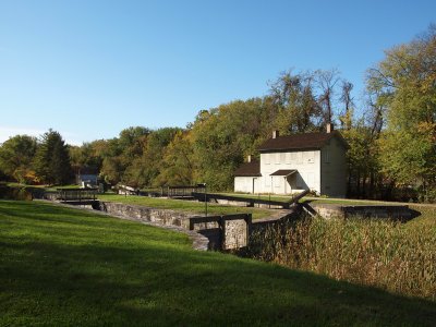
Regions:
<instances>
[{"instance_id":1,"label":"autumn tree line across the whole background behind the house","mask_svg":"<svg viewBox=\"0 0 436 327\"><path fill-rule=\"evenodd\" d=\"M263 97L201 110L186 128L133 126L118 137L66 146L58 132L17 135L0 147L3 178L64 183L95 168L136 187L207 183L231 190L233 172L270 137L335 123L350 145L349 196L436 198L436 27L386 51L366 73L364 105L337 70L287 71Z\"/></svg>"}]
</instances>

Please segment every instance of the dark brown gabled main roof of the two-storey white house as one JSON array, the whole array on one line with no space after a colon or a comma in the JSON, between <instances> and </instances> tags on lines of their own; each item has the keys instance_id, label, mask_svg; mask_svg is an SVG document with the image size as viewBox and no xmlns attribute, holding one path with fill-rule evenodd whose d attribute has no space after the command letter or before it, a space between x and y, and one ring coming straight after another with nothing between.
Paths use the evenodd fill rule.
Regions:
<instances>
[{"instance_id":1,"label":"dark brown gabled main roof of the two-storey white house","mask_svg":"<svg viewBox=\"0 0 436 327\"><path fill-rule=\"evenodd\" d=\"M332 137L338 137L348 148L348 144L342 136L337 131L334 131L331 133L305 133L269 138L258 147L258 150L320 149Z\"/></svg>"}]
</instances>

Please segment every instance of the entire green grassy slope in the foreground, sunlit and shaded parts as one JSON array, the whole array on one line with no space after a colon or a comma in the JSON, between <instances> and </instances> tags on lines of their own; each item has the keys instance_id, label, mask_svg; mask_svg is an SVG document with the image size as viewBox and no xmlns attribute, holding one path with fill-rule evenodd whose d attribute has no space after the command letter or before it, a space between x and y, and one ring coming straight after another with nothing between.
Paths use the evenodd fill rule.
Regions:
<instances>
[{"instance_id":1,"label":"entire green grassy slope in the foreground, sunlit and shaded parts","mask_svg":"<svg viewBox=\"0 0 436 327\"><path fill-rule=\"evenodd\" d=\"M196 252L183 234L0 202L0 325L428 325L436 305Z\"/></svg>"}]
</instances>

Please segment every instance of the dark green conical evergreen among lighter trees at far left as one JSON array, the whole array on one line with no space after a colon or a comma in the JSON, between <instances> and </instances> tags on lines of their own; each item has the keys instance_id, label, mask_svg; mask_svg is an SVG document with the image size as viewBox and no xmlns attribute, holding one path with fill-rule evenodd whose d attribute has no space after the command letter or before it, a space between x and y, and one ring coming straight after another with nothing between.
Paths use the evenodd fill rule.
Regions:
<instances>
[{"instance_id":1,"label":"dark green conical evergreen among lighter trees at far left","mask_svg":"<svg viewBox=\"0 0 436 327\"><path fill-rule=\"evenodd\" d=\"M65 184L72 180L69 148L58 132L50 129L41 136L34 166L41 182Z\"/></svg>"}]
</instances>

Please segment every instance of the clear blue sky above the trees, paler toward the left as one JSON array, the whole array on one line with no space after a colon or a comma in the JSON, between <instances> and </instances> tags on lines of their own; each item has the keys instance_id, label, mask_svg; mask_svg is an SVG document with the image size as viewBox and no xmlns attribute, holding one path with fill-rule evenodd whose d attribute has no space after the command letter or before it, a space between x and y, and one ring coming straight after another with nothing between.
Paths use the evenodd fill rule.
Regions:
<instances>
[{"instance_id":1,"label":"clear blue sky above the trees, paler toward the left","mask_svg":"<svg viewBox=\"0 0 436 327\"><path fill-rule=\"evenodd\" d=\"M432 22L435 0L0 0L0 142L183 128L292 68L336 68L359 99L384 50Z\"/></svg>"}]
</instances>

